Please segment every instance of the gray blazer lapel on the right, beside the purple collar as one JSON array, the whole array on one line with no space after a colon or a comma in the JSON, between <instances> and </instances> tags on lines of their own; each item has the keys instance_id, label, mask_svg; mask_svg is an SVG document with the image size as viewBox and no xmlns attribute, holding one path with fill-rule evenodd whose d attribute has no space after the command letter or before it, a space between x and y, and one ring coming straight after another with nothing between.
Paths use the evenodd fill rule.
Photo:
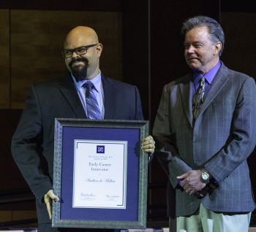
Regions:
<instances>
[{"instance_id":1,"label":"gray blazer lapel on the right, beside the purple collar","mask_svg":"<svg viewBox=\"0 0 256 232\"><path fill-rule=\"evenodd\" d=\"M214 77L214 81L211 84L211 88L208 91L208 94L206 96L206 100L203 102L203 105L200 109L200 112L198 114L201 115L209 104L214 100L214 98L217 96L220 90L224 87L225 83L228 80L228 74L229 71L227 67L222 63L222 66L220 67L219 71L217 72L216 76Z\"/></svg>"}]
</instances>

